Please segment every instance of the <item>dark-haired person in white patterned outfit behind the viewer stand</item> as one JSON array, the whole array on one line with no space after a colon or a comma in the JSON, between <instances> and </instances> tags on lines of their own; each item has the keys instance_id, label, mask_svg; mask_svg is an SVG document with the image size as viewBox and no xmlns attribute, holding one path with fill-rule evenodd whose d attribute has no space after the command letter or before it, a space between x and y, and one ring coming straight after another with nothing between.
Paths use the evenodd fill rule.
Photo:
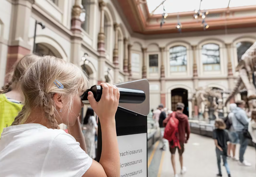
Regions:
<instances>
[{"instance_id":1,"label":"dark-haired person in white patterned outfit behind the viewer stand","mask_svg":"<svg viewBox=\"0 0 256 177\"><path fill-rule=\"evenodd\" d=\"M98 128L94 111L91 107L87 108L86 115L83 120L83 136L86 143L87 154L92 158L96 158L95 133Z\"/></svg>"}]
</instances>

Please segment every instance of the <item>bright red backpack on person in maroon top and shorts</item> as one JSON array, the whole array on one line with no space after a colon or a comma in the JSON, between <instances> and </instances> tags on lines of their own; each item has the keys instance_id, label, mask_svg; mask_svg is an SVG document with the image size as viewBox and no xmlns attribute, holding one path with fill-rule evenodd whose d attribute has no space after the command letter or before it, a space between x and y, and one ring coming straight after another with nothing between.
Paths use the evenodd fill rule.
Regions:
<instances>
[{"instance_id":1,"label":"bright red backpack on person in maroon top and shorts","mask_svg":"<svg viewBox=\"0 0 256 177\"><path fill-rule=\"evenodd\" d=\"M166 121L168 122L164 130L164 138L168 140L170 144L172 144L172 147L178 146L180 149L179 132L178 132L179 120L175 118L175 112L172 113L172 117L170 115L167 118L167 120L164 120L164 122Z\"/></svg>"}]
</instances>

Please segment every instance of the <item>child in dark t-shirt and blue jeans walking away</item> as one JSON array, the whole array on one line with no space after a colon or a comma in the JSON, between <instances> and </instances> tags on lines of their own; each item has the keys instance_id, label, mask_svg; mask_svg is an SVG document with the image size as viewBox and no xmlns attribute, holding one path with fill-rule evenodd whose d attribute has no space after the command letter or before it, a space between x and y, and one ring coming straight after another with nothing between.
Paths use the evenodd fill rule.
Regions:
<instances>
[{"instance_id":1,"label":"child in dark t-shirt and blue jeans walking away","mask_svg":"<svg viewBox=\"0 0 256 177\"><path fill-rule=\"evenodd\" d=\"M225 131L226 124L220 118L216 119L215 121L216 129L213 131L213 139L216 145L216 156L217 156L217 164L219 173L217 176L222 176L221 173L221 156L223 159L224 166L226 167L228 177L230 175L230 168L228 167L227 163L227 141L229 141L228 133Z\"/></svg>"}]
</instances>

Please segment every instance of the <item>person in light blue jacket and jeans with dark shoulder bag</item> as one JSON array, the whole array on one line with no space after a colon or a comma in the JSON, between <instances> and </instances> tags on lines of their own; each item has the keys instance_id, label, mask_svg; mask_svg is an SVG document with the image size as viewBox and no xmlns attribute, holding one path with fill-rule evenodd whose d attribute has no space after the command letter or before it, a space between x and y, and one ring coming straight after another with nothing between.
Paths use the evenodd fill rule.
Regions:
<instances>
[{"instance_id":1,"label":"person in light blue jacket and jeans with dark shoulder bag","mask_svg":"<svg viewBox=\"0 0 256 177\"><path fill-rule=\"evenodd\" d=\"M245 101L237 101L237 107L233 109L234 116L232 117L232 126L234 130L237 132L237 135L240 140L240 150L239 150L239 165L243 166L251 166L251 163L244 160L243 156L245 155L245 151L248 145L248 139L243 135L243 130L248 128L249 119L246 115L245 110Z\"/></svg>"}]
</instances>

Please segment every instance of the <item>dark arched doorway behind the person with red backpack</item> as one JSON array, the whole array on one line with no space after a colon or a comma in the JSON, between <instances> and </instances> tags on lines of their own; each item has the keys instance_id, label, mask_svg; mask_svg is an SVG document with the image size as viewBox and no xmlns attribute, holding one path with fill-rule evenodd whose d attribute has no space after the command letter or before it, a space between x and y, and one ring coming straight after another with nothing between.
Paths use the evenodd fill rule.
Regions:
<instances>
[{"instance_id":1,"label":"dark arched doorway behind the person with red backpack","mask_svg":"<svg viewBox=\"0 0 256 177\"><path fill-rule=\"evenodd\" d=\"M183 113L189 116L188 115L188 90L183 88L173 89L171 91L171 98L172 98L172 111L176 111L176 104L178 102L182 102L185 105Z\"/></svg>"}]
</instances>

